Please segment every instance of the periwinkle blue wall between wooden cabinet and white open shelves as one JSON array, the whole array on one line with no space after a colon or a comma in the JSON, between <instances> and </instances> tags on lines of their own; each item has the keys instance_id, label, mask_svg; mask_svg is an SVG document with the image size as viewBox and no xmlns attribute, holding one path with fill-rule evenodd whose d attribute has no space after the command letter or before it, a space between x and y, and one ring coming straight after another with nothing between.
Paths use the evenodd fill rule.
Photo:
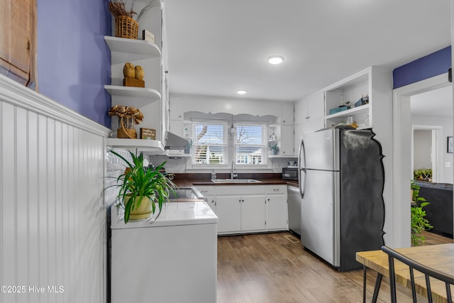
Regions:
<instances>
[{"instance_id":1,"label":"periwinkle blue wall between wooden cabinet and white open shelves","mask_svg":"<svg viewBox=\"0 0 454 303\"><path fill-rule=\"evenodd\" d=\"M38 0L39 92L108 128L111 35L106 0Z\"/></svg>"}]
</instances>

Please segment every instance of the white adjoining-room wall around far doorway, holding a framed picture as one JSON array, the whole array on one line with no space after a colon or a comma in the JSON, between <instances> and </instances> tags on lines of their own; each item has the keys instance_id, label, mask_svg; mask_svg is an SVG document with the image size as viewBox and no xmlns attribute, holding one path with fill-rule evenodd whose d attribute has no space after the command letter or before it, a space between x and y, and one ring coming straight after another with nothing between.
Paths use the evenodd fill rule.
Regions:
<instances>
[{"instance_id":1,"label":"white adjoining-room wall around far doorway, holding a framed picture","mask_svg":"<svg viewBox=\"0 0 454 303\"><path fill-rule=\"evenodd\" d=\"M453 136L453 118L446 116L416 116L411 115L411 124L419 126L439 126L441 127L441 183L453 183L453 154L447 153L448 136ZM445 163L449 162L450 167L445 167Z\"/></svg>"}]
</instances>

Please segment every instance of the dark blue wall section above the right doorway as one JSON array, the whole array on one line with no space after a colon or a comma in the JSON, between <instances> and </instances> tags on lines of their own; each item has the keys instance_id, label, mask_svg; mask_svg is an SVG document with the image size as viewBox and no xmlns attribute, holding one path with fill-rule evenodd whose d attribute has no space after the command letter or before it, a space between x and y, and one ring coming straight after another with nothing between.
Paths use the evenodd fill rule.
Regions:
<instances>
[{"instance_id":1,"label":"dark blue wall section above the right doorway","mask_svg":"<svg viewBox=\"0 0 454 303\"><path fill-rule=\"evenodd\" d=\"M405 85L435 77L445 72L451 67L451 47L443 48L435 53L426 55L409 62L406 65L397 67L392 72L394 89Z\"/></svg>"}]
</instances>

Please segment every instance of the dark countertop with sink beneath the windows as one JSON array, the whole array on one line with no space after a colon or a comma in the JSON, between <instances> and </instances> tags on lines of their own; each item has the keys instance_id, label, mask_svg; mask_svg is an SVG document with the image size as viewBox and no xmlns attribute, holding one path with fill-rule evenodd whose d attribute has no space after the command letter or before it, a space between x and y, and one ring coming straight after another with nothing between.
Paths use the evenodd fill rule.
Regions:
<instances>
[{"instance_id":1,"label":"dark countertop with sink beneath the windows","mask_svg":"<svg viewBox=\"0 0 454 303\"><path fill-rule=\"evenodd\" d=\"M279 173L268 173L268 174L238 174L238 179L255 179L261 181L260 183L215 183L210 180L210 173L194 173L194 174L175 174L173 182L177 184L178 187L191 187L197 185L273 185L273 184L282 184L282 185L292 185L298 186L298 180L282 180L282 175ZM217 174L218 179L228 179L229 174Z\"/></svg>"}]
</instances>

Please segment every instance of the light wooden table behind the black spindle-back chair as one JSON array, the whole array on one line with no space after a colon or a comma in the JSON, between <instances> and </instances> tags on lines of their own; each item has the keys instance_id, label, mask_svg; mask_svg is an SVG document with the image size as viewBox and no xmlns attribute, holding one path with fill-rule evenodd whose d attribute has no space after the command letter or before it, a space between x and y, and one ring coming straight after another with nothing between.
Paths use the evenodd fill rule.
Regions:
<instances>
[{"instance_id":1,"label":"light wooden table behind the black spindle-back chair","mask_svg":"<svg viewBox=\"0 0 454 303\"><path fill-rule=\"evenodd\" d=\"M397 248L396 250L423 265L435 268L449 275L454 275L454 243ZM388 255L382 250L360 251L356 253L356 260L364 265L363 302L365 302L366 293L366 270L367 268L371 268L377 272L377 281L375 282L375 290L372 297L372 302L376 302L382 276L389 277ZM396 272L396 281L411 288L408 265L394 260L394 270ZM427 297L424 275L415 270L414 278L416 292ZM443 282L438 280L433 280L432 282L431 279L431 289L433 302L446 302L446 290ZM453 287L451 287L451 292L454 292Z\"/></svg>"}]
</instances>

